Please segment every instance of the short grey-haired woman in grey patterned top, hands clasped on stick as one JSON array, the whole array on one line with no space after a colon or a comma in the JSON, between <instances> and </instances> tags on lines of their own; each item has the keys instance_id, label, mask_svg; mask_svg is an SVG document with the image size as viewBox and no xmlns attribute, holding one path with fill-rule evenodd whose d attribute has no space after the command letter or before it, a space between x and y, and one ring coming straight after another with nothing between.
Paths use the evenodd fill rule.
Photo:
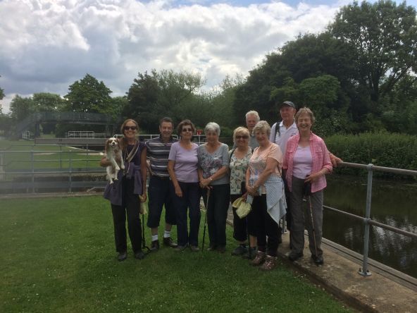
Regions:
<instances>
[{"instance_id":1,"label":"short grey-haired woman in grey patterned top, hands clasped on stick","mask_svg":"<svg viewBox=\"0 0 417 313\"><path fill-rule=\"evenodd\" d=\"M218 141L220 126L208 123L204 128L206 143L199 146L199 181L204 202L207 203L207 191L210 197L207 203L207 226L210 245L208 250L226 250L226 219L230 201L230 183L228 177L228 145Z\"/></svg>"}]
</instances>

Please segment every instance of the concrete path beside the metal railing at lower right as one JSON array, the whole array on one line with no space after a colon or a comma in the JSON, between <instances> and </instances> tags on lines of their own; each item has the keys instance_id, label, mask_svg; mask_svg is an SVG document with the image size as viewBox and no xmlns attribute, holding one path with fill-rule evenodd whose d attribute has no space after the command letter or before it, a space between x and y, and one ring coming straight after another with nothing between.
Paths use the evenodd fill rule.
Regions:
<instances>
[{"instance_id":1,"label":"concrete path beside the metal railing at lower right","mask_svg":"<svg viewBox=\"0 0 417 313\"><path fill-rule=\"evenodd\" d=\"M229 209L228 223L233 225L233 215ZM290 262L290 233L282 234L282 245L278 254L282 260L323 286L328 292L344 300L360 311L370 312L417 312L417 279L402 274L388 266L370 260L371 276L358 274L361 255L346 248L323 240L322 249L325 263L316 266L311 261L309 240L306 237L304 257Z\"/></svg>"}]
</instances>

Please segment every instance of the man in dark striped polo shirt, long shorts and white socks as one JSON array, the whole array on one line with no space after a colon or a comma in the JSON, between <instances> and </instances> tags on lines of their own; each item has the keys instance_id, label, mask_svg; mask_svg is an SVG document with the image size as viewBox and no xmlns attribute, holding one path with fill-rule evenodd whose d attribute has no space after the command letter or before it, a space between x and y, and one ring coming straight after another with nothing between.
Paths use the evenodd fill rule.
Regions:
<instances>
[{"instance_id":1,"label":"man in dark striped polo shirt, long shorts and white socks","mask_svg":"<svg viewBox=\"0 0 417 313\"><path fill-rule=\"evenodd\" d=\"M151 251L158 251L158 226L161 219L162 207L165 205L165 232L163 233L163 245L168 247L177 247L170 236L171 228L175 221L175 211L170 198L169 192L169 174L168 174L168 155L171 145L177 140L171 136L173 134L173 120L171 118L162 118L159 123L159 137L148 140L147 158L150 164L151 178L149 180L148 197L149 197L149 214L147 226L151 228L152 245Z\"/></svg>"}]
</instances>

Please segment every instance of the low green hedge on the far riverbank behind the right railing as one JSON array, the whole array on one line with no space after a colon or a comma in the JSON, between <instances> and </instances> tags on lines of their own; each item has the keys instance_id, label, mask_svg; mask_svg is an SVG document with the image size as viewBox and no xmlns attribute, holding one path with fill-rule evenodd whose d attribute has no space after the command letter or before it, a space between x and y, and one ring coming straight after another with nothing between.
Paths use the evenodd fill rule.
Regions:
<instances>
[{"instance_id":1,"label":"low green hedge on the far riverbank behind the right railing","mask_svg":"<svg viewBox=\"0 0 417 313\"><path fill-rule=\"evenodd\" d=\"M373 164L392 168L417 170L417 136L380 133L359 135L332 135L325 139L328 149L343 161ZM340 173L366 175L366 171L340 168ZM391 173L377 172L379 177L399 177Z\"/></svg>"}]
</instances>

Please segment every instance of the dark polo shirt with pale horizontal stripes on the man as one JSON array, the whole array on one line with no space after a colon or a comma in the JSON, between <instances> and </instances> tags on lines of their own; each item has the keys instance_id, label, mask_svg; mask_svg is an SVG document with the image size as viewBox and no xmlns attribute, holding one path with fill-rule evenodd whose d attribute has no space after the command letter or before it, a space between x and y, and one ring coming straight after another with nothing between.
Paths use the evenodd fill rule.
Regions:
<instances>
[{"instance_id":1,"label":"dark polo shirt with pale horizontal stripes on the man","mask_svg":"<svg viewBox=\"0 0 417 313\"><path fill-rule=\"evenodd\" d=\"M152 175L159 177L169 177L168 156L171 145L178 140L170 138L168 142L163 142L161 137L156 137L146 142L147 158L151 163Z\"/></svg>"}]
</instances>

